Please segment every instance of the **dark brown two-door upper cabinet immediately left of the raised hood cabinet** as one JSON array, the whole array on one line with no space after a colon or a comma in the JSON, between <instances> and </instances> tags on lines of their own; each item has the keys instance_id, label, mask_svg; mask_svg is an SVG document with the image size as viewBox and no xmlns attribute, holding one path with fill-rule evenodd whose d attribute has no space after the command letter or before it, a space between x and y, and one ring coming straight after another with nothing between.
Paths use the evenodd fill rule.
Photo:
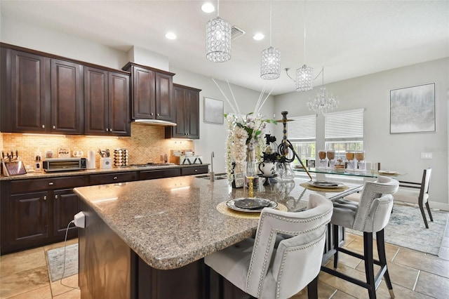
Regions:
<instances>
[{"instance_id":1,"label":"dark brown two-door upper cabinet immediately left of the raised hood cabinet","mask_svg":"<svg viewBox=\"0 0 449 299\"><path fill-rule=\"evenodd\" d=\"M87 135L130 135L129 74L84 67Z\"/></svg>"}]
</instances>

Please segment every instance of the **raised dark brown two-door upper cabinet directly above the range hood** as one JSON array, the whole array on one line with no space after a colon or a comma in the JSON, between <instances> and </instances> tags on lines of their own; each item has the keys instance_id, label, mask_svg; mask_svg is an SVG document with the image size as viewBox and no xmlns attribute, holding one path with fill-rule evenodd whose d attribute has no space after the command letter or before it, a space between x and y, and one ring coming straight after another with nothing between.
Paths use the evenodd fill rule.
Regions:
<instances>
[{"instance_id":1,"label":"raised dark brown two-door upper cabinet directly above the range hood","mask_svg":"<svg viewBox=\"0 0 449 299\"><path fill-rule=\"evenodd\" d=\"M175 74L134 62L123 67L131 75L131 119L175 121Z\"/></svg>"}]
</instances>

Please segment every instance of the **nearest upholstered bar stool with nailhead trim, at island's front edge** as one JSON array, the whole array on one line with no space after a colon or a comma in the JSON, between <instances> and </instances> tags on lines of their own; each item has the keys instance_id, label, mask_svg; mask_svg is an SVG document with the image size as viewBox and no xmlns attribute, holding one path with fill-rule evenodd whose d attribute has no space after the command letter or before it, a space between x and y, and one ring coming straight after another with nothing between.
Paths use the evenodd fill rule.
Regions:
<instances>
[{"instance_id":1,"label":"nearest upholstered bar stool with nailhead trim, at island's front edge","mask_svg":"<svg viewBox=\"0 0 449 299\"><path fill-rule=\"evenodd\" d=\"M204 262L256 298L290 298L307 285L309 298L318 298L326 224L332 213L332 202L319 194L310 194L302 212L264 208L255 239L208 255ZM278 234L283 239L275 248Z\"/></svg>"}]
</instances>

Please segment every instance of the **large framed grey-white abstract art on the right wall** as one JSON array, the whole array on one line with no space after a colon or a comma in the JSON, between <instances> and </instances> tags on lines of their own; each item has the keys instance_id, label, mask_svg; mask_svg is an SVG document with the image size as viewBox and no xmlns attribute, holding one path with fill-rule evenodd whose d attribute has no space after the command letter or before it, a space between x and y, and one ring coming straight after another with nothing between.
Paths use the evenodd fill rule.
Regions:
<instances>
[{"instance_id":1,"label":"large framed grey-white abstract art on the right wall","mask_svg":"<svg viewBox=\"0 0 449 299\"><path fill-rule=\"evenodd\" d=\"M390 91L390 134L435 132L435 84Z\"/></svg>"}]
</instances>

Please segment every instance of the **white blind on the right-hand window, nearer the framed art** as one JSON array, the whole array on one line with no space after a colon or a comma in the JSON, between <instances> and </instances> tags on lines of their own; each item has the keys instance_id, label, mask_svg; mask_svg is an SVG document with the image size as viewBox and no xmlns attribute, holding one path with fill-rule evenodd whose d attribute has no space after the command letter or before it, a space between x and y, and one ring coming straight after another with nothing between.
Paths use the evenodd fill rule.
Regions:
<instances>
[{"instance_id":1,"label":"white blind on the right-hand window, nearer the framed art","mask_svg":"<svg viewBox=\"0 0 449 299\"><path fill-rule=\"evenodd\" d=\"M324 114L326 139L363 138L363 109Z\"/></svg>"}]
</instances>

